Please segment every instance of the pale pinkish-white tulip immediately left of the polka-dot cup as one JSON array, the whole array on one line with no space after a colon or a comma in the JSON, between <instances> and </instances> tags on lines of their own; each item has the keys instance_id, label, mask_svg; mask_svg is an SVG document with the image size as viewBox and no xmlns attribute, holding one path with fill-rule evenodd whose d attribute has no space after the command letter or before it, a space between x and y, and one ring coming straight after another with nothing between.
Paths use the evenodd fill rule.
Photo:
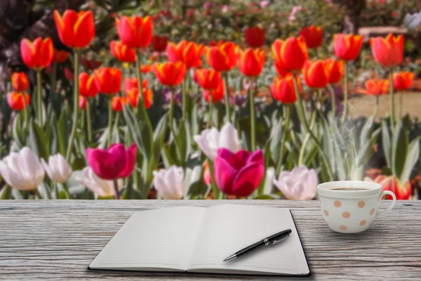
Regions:
<instances>
[{"instance_id":1,"label":"pale pinkish-white tulip immediately left of the polka-dot cup","mask_svg":"<svg viewBox=\"0 0 421 281\"><path fill-rule=\"evenodd\" d=\"M307 169L306 166L283 171L279 174L278 181L274 180L274 185L290 200L313 199L316 196L317 183L316 171Z\"/></svg>"}]
</instances>

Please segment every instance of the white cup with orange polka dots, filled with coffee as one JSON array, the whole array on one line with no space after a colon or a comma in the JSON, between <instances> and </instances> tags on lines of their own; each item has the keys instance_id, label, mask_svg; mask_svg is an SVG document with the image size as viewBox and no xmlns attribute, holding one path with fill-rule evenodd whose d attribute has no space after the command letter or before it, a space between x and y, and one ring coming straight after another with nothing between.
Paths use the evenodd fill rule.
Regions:
<instances>
[{"instance_id":1,"label":"white cup with orange polka dots, filled with coffee","mask_svg":"<svg viewBox=\"0 0 421 281\"><path fill-rule=\"evenodd\" d=\"M359 233L396 203L394 192L382 191L382 185L369 181L330 181L317 185L321 211L331 230L338 233ZM378 211L377 205L385 195L392 204Z\"/></svg>"}]
</instances>

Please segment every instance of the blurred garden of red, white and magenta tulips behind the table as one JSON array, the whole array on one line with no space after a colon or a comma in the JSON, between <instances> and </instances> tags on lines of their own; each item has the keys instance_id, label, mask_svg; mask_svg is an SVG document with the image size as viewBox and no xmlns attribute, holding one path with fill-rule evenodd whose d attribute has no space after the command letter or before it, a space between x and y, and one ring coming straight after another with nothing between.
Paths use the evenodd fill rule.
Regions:
<instances>
[{"instance_id":1,"label":"blurred garden of red, white and magenta tulips behind the table","mask_svg":"<svg viewBox=\"0 0 421 281\"><path fill-rule=\"evenodd\" d=\"M420 11L2 0L0 199L420 199Z\"/></svg>"}]
</instances>

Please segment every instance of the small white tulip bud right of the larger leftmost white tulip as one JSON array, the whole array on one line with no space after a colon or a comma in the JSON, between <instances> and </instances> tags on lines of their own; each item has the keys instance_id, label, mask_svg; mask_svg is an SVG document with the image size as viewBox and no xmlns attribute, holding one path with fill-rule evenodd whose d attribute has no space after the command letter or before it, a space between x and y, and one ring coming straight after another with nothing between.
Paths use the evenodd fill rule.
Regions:
<instances>
[{"instance_id":1,"label":"small white tulip bud right of the larger leftmost white tulip","mask_svg":"<svg viewBox=\"0 0 421 281\"><path fill-rule=\"evenodd\" d=\"M65 183L72 176L72 167L60 153L51 155L48 158L48 164L44 159L41 159L41 163L48 177L56 183Z\"/></svg>"}]
</instances>

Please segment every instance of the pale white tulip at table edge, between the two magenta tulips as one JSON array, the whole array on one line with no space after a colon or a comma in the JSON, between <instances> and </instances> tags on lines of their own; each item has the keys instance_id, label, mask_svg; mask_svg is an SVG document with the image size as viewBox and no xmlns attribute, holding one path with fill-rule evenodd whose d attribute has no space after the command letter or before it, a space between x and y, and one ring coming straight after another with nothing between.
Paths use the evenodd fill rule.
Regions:
<instances>
[{"instance_id":1,"label":"pale white tulip at table edge, between the two magenta tulips","mask_svg":"<svg viewBox=\"0 0 421 281\"><path fill-rule=\"evenodd\" d=\"M163 199L181 199L185 194L184 171L178 166L154 171L154 186Z\"/></svg>"}]
</instances>

